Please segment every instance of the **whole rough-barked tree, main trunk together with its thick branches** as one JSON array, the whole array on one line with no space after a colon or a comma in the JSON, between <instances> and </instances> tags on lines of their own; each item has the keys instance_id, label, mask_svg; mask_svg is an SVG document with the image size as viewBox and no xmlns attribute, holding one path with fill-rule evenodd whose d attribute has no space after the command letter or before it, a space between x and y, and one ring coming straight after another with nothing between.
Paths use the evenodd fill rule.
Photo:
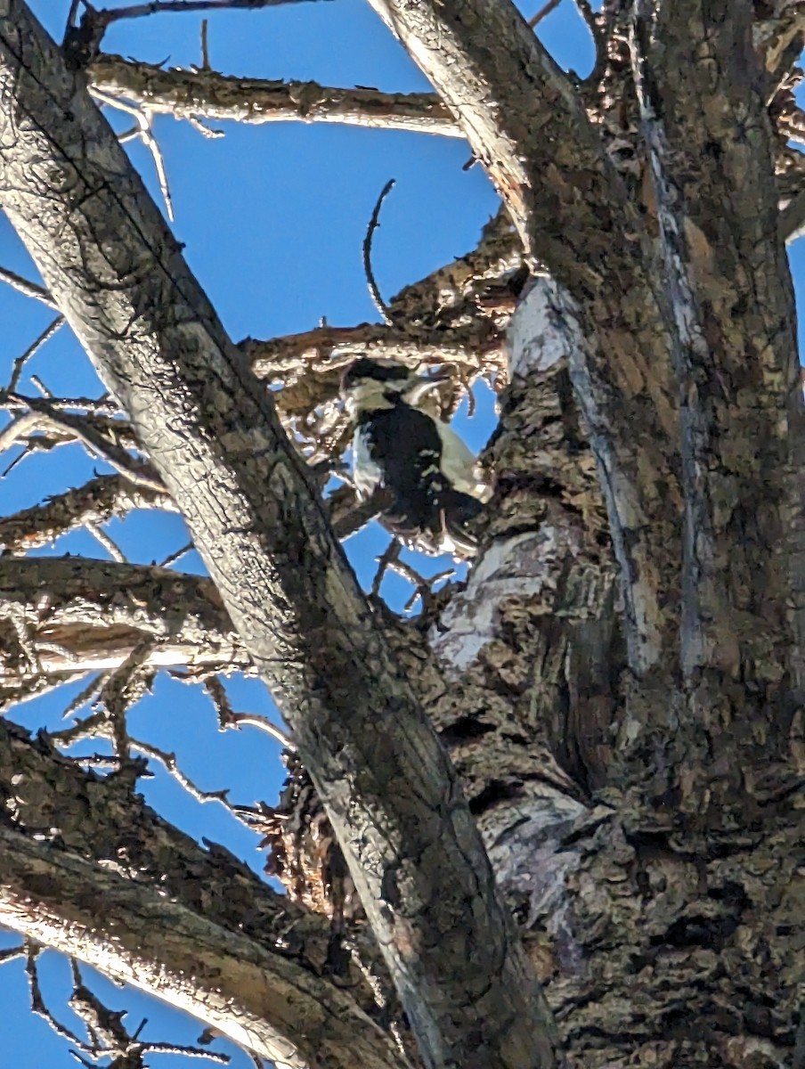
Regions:
<instances>
[{"instance_id":1,"label":"whole rough-barked tree, main trunk together with its thick branches","mask_svg":"<svg viewBox=\"0 0 805 1069\"><path fill-rule=\"evenodd\" d=\"M82 76L0 0L3 207L157 479L127 443L0 523L0 699L76 663L242 668L298 747L260 815L285 899L148 810L136 769L0 723L0 924L294 1069L802 1069L801 9L579 4L577 86L506 0L371 3L508 216L385 326L234 346ZM89 76L182 113L184 72ZM325 96L324 121L377 104ZM482 552L415 624L360 593L254 375L287 376L280 417L335 405L334 351L508 362ZM17 556L134 507L177 508L211 578Z\"/></svg>"}]
</instances>

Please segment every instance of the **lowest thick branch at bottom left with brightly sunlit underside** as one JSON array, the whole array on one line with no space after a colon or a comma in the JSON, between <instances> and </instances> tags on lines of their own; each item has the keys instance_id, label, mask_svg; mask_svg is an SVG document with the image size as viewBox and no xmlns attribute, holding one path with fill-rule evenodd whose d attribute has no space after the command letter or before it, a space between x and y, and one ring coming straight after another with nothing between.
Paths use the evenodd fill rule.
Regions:
<instances>
[{"instance_id":1,"label":"lowest thick branch at bottom left with brightly sunlit underside","mask_svg":"<svg viewBox=\"0 0 805 1069\"><path fill-rule=\"evenodd\" d=\"M350 995L290 958L20 832L0 830L0 921L12 931L145 990L292 1069L399 1069L399 1051Z\"/></svg>"}]
</instances>

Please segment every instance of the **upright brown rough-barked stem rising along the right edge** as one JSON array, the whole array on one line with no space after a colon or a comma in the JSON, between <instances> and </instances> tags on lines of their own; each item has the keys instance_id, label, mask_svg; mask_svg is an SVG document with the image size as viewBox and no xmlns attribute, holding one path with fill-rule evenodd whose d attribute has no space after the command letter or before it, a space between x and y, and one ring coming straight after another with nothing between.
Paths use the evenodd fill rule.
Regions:
<instances>
[{"instance_id":1,"label":"upright brown rough-barked stem rising along the right edge","mask_svg":"<svg viewBox=\"0 0 805 1069\"><path fill-rule=\"evenodd\" d=\"M793 291L750 5L691 2L655 15L638 4L633 48L682 399L685 761L711 769L712 725L725 716L737 746L728 757L719 740L721 787L706 773L684 804L708 795L722 808L746 789L741 769L785 761L790 716L779 707L787 671L801 667L790 608L793 592L801 614L804 582Z\"/></svg>"}]
</instances>

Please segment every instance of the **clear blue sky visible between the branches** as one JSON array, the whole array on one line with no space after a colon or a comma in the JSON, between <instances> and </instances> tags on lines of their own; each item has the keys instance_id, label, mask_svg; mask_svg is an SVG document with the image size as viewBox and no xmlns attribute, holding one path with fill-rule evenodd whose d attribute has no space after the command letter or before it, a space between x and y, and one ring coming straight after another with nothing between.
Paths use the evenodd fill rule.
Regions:
<instances>
[{"instance_id":1,"label":"clear blue sky visible between the branches","mask_svg":"<svg viewBox=\"0 0 805 1069\"><path fill-rule=\"evenodd\" d=\"M69 0L29 3L60 38ZM106 5L122 6L112 0ZM541 2L521 6L530 16ZM162 14L115 24L104 47L150 62L168 59L169 65L188 66L200 62L200 22L196 14ZM589 69L591 46L571 0L544 20L540 35L561 65L579 74ZM363 0L211 14L210 58L214 67L234 75L315 79L388 91L429 88ZM113 122L119 129L128 125L125 119ZM188 123L159 118L155 134L171 186L174 232L185 243L191 268L235 340L307 330L322 316L337 325L376 320L363 277L361 243L374 202L389 177L397 179L397 186L386 201L374 242L375 275L387 297L470 249L497 206L481 169L462 169L468 152L460 140L300 123L218 125L225 137L211 140ZM139 143L129 143L128 150L160 202L151 156ZM799 260L795 249L795 269ZM0 264L37 277L1 215ZM0 316L4 326L0 382L6 382L14 358L52 313L0 283ZM86 356L66 329L31 361L20 383L24 392L32 390L29 372L60 396L100 391ZM474 448L480 448L493 425L486 396L479 416L463 429ZM34 455L0 480L0 512L13 512L49 493L79 485L93 469L104 467L78 447ZM181 518L170 515L134 514L113 523L109 530L137 562L161 560L187 541ZM347 543L365 583L371 579L374 557L383 545L376 530ZM43 552L106 556L86 532L68 536ZM199 570L201 566L198 559L186 557L176 567ZM392 601L402 592L393 582L384 589ZM236 709L277 715L262 684L234 680L228 685ZM61 712L77 690L64 688L31 701L14 718L29 728L63 726ZM282 778L277 744L253 729L219 733L214 711L197 688L160 677L153 697L133 711L129 723L133 734L175 750L184 772L203 789L230 787L233 800L244 804L276 797ZM262 868L256 837L237 826L220 806L198 805L158 768L154 771L154 779L143 781L142 790L159 811L192 835L226 843L256 870ZM0 932L0 948L13 943ZM69 1022L71 1013L62 1002L66 963L49 952L43 958L42 972L51 1008ZM192 1042L201 1031L197 1022L139 993L114 989L100 979L94 987L109 996L113 1008L130 1010L131 1027L148 1017L146 1039ZM31 1017L20 962L0 967L0 1050L9 1065L16 1069L76 1065L63 1041ZM232 1054L236 1069L251 1065L231 1044L217 1042L215 1048ZM176 1069L191 1064L175 1056L168 1063L167 1057L151 1060L154 1066L171 1064Z\"/></svg>"}]
</instances>

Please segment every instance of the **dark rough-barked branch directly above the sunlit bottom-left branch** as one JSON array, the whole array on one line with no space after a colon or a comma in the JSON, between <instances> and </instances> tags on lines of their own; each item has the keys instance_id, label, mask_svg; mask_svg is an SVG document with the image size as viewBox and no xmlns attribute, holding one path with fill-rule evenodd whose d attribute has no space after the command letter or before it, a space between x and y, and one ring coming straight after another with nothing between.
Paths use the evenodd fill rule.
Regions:
<instances>
[{"instance_id":1,"label":"dark rough-barked branch directly above the sunlit bottom-left branch","mask_svg":"<svg viewBox=\"0 0 805 1069\"><path fill-rule=\"evenodd\" d=\"M393 998L376 947L359 932L355 933L355 940L360 947L362 967L371 967L374 972L374 991L363 980L361 969L350 962L342 963L345 967L338 975L325 971L331 944L330 925L326 918L294 905L287 896L272 890L248 865L214 843L208 843L205 850L201 849L187 835L159 818L140 795L130 794L118 776L99 779L57 754L44 734L32 740L22 728L2 719L0 796L4 800L9 820L20 837L27 835L42 841L43 828L58 828L59 847L52 841L43 842L43 849L48 853L65 850L67 857L81 857L88 862L91 870L109 872L113 869L130 880L133 889L138 886L143 889L157 887L160 898L167 896L170 901L184 905L190 914L199 911L198 893L199 887L203 887L203 923L245 938L257 945L261 954L267 954L269 959L281 959L280 975L285 975L290 964L292 976L307 977L301 986L303 990L306 985L309 987L310 998L319 998L316 989L321 985L325 1020L326 1006L329 1004L334 1011L338 1011L339 1001L346 996L351 1005L342 1003L342 1008L349 1009L344 1021L349 1022L353 1017L355 1027L362 1031L363 1022L381 1016L378 997L382 998L385 992ZM89 806L88 800L92 800ZM109 865L110 857L117 858L113 866ZM90 876L90 879L93 878ZM151 894L151 889L145 890L146 899ZM92 897L84 900L90 911L94 901L96 899ZM149 927L154 926L156 945L159 940L156 913ZM41 942L50 945L47 940ZM98 945L102 943L103 939L99 939ZM223 949L225 954L229 954L226 935ZM169 961L167 946L165 952ZM170 974L173 966L168 963L167 967ZM197 971L198 961L193 975ZM210 975L214 976L215 971ZM269 975L265 981L270 988ZM336 992L335 1006L331 1003L334 996L327 991L332 986L343 986L346 992L346 995ZM269 990L265 990L264 994L272 997ZM280 987L276 994L281 1000L287 992ZM311 1022L319 1020L318 1011L307 1008L304 1002L296 1004L296 1008L290 1004L285 1014L293 1016L297 1010L303 1020L308 1012L312 1013ZM201 1019L213 1023L203 1012ZM233 1026L236 1022L235 1016ZM297 1028L300 1035L306 1032L301 1023L294 1025L287 1016L281 1018L281 1023L290 1031ZM372 1032L372 1026L369 1031ZM371 1035L368 1038L371 1043ZM356 1056L359 1055L351 1054L347 1045L340 1059L334 1055L334 1069L361 1064L350 1060ZM371 1064L374 1065L374 1062ZM399 1063L397 1066L399 1069Z\"/></svg>"}]
</instances>

